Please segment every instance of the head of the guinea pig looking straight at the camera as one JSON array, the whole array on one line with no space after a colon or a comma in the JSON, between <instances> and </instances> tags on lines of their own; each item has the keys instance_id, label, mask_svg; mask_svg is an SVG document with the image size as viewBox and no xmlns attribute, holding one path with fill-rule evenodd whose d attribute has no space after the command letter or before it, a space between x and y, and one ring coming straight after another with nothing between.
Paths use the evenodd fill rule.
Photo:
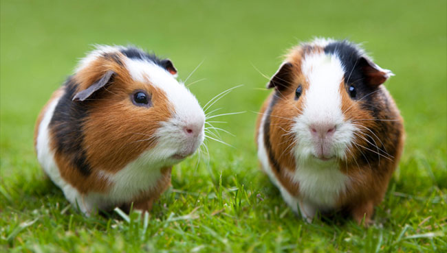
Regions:
<instances>
[{"instance_id":1,"label":"head of the guinea pig looking straight at the camera","mask_svg":"<svg viewBox=\"0 0 447 253\"><path fill-rule=\"evenodd\" d=\"M276 89L273 141L296 162L355 161L373 143L376 119L386 118L380 84L391 75L346 40L295 47L268 84Z\"/></svg>"}]
</instances>

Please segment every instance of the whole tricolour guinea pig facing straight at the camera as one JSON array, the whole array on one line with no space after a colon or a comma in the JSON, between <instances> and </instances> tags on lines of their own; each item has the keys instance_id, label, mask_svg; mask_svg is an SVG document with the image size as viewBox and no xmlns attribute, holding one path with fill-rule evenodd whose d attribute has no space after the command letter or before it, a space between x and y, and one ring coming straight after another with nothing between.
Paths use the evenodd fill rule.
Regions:
<instances>
[{"instance_id":1,"label":"whole tricolour guinea pig facing straight at the camera","mask_svg":"<svg viewBox=\"0 0 447 253\"><path fill-rule=\"evenodd\" d=\"M296 214L371 222L404 145L380 68L358 45L317 38L290 50L257 119L261 168ZM299 211L299 213L298 213Z\"/></svg>"}]
</instances>

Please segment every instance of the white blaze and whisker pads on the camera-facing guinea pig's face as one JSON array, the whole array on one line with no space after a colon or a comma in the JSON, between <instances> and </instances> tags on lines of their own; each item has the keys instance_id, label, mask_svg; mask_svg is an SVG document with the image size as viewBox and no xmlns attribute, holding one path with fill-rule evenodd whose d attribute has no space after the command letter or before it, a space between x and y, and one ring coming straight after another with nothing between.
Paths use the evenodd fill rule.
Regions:
<instances>
[{"instance_id":1,"label":"white blaze and whisker pads on the camera-facing guinea pig's face","mask_svg":"<svg viewBox=\"0 0 447 253\"><path fill-rule=\"evenodd\" d=\"M309 125L336 125L331 137L331 154L345 158L346 149L351 145L356 129L345 121L341 109L340 83L345 71L335 55L317 53L306 56L302 64L303 75L309 88L300 99L304 99L303 112L295 119L293 131L298 140L295 154L298 160L307 160L316 154L314 138Z\"/></svg>"}]
</instances>

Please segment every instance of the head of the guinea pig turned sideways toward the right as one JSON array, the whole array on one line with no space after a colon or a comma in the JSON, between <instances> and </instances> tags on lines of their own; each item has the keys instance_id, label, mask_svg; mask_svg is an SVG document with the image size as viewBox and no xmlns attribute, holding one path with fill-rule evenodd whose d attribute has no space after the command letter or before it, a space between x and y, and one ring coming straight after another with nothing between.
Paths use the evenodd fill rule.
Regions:
<instances>
[{"instance_id":1,"label":"head of the guinea pig turned sideways toward the right","mask_svg":"<svg viewBox=\"0 0 447 253\"><path fill-rule=\"evenodd\" d=\"M135 47L98 46L67 84L83 112L83 145L93 167L120 169L145 154L173 165L204 141L204 111L171 60Z\"/></svg>"}]
</instances>

